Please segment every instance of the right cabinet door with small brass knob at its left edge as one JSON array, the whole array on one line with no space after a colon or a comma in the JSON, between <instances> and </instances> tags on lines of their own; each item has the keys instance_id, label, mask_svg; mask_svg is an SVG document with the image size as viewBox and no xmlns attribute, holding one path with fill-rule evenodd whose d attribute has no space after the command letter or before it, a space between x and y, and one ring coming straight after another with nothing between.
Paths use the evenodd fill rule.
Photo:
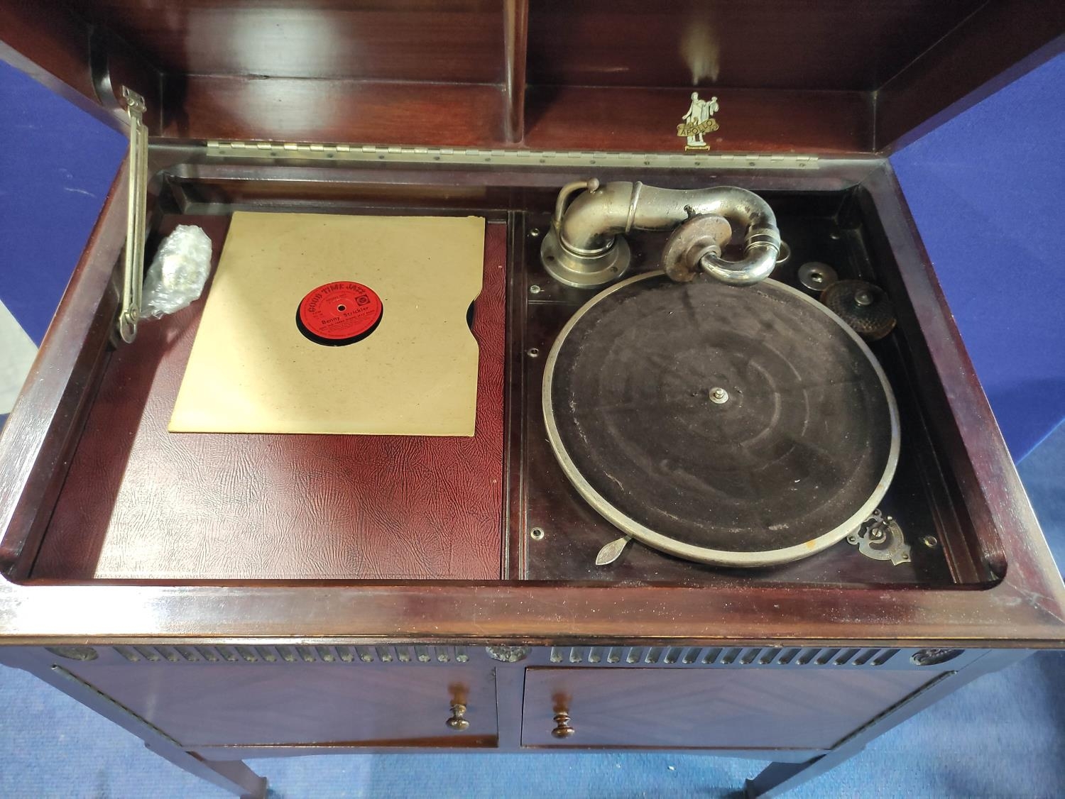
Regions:
<instances>
[{"instance_id":1,"label":"right cabinet door with small brass knob at its left edge","mask_svg":"<svg viewBox=\"0 0 1065 799\"><path fill-rule=\"evenodd\" d=\"M530 668L527 747L828 749L930 677L770 668ZM556 715L573 732L555 737Z\"/></svg>"}]
</instances>

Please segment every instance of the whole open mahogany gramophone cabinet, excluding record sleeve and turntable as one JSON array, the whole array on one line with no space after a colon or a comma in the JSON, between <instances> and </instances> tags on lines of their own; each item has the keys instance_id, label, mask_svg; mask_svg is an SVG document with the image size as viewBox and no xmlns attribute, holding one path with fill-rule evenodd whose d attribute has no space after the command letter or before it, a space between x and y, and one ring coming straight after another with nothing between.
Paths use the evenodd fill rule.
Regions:
<instances>
[{"instance_id":1,"label":"whole open mahogany gramophone cabinet, excluding record sleeve and turntable","mask_svg":"<svg viewBox=\"0 0 1065 799\"><path fill-rule=\"evenodd\" d=\"M580 748L769 760L748 789L772 795L1061 647L1065 588L886 156L1063 30L1054 2L0 2L0 57L137 142L0 434L0 662L245 796L245 758ZM706 149L677 135L692 85ZM590 296L540 242L590 178L750 189L792 253L775 279L826 262L890 297L908 559L596 563L618 532L539 404ZM474 436L168 434L203 300L119 324L131 210L148 257L195 223L217 259L236 211L484 216ZM632 236L636 272L663 242Z\"/></svg>"}]
</instances>

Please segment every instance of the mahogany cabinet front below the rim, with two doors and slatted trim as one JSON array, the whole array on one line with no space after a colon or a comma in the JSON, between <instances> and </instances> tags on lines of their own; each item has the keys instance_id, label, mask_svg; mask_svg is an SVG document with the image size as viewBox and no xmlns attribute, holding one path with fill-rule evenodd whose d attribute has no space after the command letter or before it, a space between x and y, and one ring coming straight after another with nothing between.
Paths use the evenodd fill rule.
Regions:
<instances>
[{"instance_id":1,"label":"mahogany cabinet front below the rim, with two doors and slatted trim","mask_svg":"<svg viewBox=\"0 0 1065 799\"><path fill-rule=\"evenodd\" d=\"M12 647L3 656L185 767L299 752L575 748L828 765L1016 660L898 647L403 644ZM255 793L246 776L231 782Z\"/></svg>"}]
</instances>

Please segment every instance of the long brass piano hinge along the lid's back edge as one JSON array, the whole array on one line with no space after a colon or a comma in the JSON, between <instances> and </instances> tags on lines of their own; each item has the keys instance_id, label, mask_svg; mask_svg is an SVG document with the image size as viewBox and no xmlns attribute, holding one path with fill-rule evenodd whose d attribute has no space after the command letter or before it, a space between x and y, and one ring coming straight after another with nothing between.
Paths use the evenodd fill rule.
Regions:
<instances>
[{"instance_id":1,"label":"long brass piano hinge along the lid's back edge","mask_svg":"<svg viewBox=\"0 0 1065 799\"><path fill-rule=\"evenodd\" d=\"M388 147L306 142L208 142L208 155L269 160L474 166L652 167L654 169L817 169L817 155L767 153L636 153L580 150L503 150L461 147Z\"/></svg>"}]
</instances>

